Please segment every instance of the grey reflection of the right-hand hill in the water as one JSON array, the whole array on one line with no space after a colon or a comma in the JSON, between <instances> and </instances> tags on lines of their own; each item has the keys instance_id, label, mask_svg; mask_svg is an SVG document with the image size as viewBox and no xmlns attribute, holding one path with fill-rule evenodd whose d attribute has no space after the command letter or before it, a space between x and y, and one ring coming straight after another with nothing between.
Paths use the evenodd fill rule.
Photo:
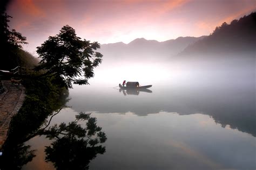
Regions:
<instances>
[{"instance_id":1,"label":"grey reflection of the right-hand hill in the water","mask_svg":"<svg viewBox=\"0 0 256 170\"><path fill-rule=\"evenodd\" d=\"M230 89L228 89L230 88ZM196 97L193 107L199 113L210 115L216 123L222 127L230 125L233 129L247 132L256 137L256 109L255 92L253 86L234 87L227 89L215 89L217 91L206 92L205 97ZM180 114L192 114L182 113Z\"/></svg>"}]
</instances>

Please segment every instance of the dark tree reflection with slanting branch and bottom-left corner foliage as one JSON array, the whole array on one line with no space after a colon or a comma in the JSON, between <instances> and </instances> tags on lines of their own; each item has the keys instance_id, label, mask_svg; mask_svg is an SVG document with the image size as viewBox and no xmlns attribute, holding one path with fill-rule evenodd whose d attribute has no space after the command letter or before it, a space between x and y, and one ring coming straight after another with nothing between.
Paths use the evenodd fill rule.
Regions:
<instances>
[{"instance_id":1,"label":"dark tree reflection with slanting branch and bottom-left corner foliage","mask_svg":"<svg viewBox=\"0 0 256 170\"><path fill-rule=\"evenodd\" d=\"M23 142L37 135L46 135L50 140L56 139L50 146L46 146L45 160L53 162L57 169L88 169L90 161L96 158L97 154L105 153L105 147L100 144L106 141L106 134L102 132L101 127L97 126L97 119L90 117L90 113L79 113L76 115L76 120L68 125L61 123L48 127L56 114L51 116L48 125L44 128L30 134L17 146L9 147L7 150L9 152L6 152L2 158L5 164L2 164L1 168L21 169L31 161L36 156L35 150L29 150L30 146L25 146ZM82 122L85 121L85 127L83 127ZM12 160L9 160L10 158Z\"/></svg>"}]
</instances>

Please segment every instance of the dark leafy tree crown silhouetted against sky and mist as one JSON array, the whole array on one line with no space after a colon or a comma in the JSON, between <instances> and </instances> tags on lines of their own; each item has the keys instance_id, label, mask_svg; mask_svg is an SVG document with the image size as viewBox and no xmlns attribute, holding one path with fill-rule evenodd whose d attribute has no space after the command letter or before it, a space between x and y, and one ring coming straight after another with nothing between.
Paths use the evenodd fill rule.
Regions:
<instances>
[{"instance_id":1,"label":"dark leafy tree crown silhouetted against sky and mist","mask_svg":"<svg viewBox=\"0 0 256 170\"><path fill-rule=\"evenodd\" d=\"M93 68L102 63L103 55L95 52L99 47L98 42L81 40L71 26L63 26L58 35L50 36L37 47L42 60L36 70L47 69L43 76L60 76L67 88L72 88L72 83L89 84L88 79L94 76Z\"/></svg>"}]
</instances>

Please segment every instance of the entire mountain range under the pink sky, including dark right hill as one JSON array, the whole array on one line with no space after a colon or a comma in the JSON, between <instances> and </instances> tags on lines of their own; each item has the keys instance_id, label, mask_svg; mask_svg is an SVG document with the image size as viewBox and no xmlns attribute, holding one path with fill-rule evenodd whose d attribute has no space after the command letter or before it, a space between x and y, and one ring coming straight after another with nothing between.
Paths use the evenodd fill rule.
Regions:
<instances>
[{"instance_id":1,"label":"entire mountain range under the pink sky, including dark right hill","mask_svg":"<svg viewBox=\"0 0 256 170\"><path fill-rule=\"evenodd\" d=\"M235 19L230 24L223 23L208 36L179 37L164 42L134 39L129 44L122 42L102 44L99 52L104 60L112 62L137 60L157 62L187 56L238 54L255 57L256 12ZM104 61L105 62L105 61Z\"/></svg>"}]
</instances>

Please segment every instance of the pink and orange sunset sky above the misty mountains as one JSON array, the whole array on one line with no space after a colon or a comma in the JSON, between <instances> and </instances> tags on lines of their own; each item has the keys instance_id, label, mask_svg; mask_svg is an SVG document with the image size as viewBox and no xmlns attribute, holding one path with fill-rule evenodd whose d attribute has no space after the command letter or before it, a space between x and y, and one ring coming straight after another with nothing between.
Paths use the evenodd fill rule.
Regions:
<instances>
[{"instance_id":1,"label":"pink and orange sunset sky above the misty mountains","mask_svg":"<svg viewBox=\"0 0 256 170\"><path fill-rule=\"evenodd\" d=\"M256 11L255 0L12 0L9 26L27 37L26 51L55 36L64 25L100 44L136 38L163 42L210 35L216 26Z\"/></svg>"}]
</instances>

